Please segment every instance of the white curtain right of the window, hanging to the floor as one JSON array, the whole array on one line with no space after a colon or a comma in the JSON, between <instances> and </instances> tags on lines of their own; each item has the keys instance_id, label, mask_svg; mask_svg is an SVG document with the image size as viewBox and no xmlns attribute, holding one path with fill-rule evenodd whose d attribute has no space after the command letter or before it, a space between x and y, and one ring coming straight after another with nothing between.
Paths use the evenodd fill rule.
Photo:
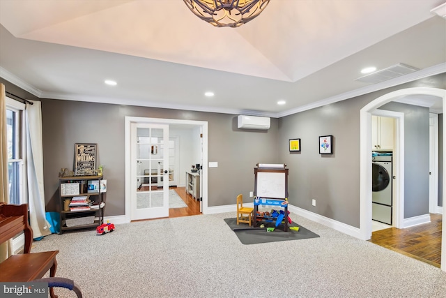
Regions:
<instances>
[{"instance_id":1,"label":"white curtain right of the window, hanging to the floor","mask_svg":"<svg viewBox=\"0 0 446 298\"><path fill-rule=\"evenodd\" d=\"M31 101L31 100L30 100ZM34 238L51 234L45 218L43 190L42 110L40 101L26 103L26 172L28 175L29 221Z\"/></svg>"}]
</instances>

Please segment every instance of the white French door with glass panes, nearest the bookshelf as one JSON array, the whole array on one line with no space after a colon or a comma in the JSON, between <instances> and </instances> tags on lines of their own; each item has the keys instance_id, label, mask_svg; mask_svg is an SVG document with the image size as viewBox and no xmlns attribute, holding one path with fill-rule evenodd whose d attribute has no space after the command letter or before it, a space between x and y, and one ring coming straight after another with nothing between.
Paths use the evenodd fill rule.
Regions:
<instances>
[{"instance_id":1,"label":"white French door with glass panes, nearest the bookshelf","mask_svg":"<svg viewBox=\"0 0 446 298\"><path fill-rule=\"evenodd\" d=\"M169 125L131 124L132 220L169 216L169 146L164 144L169 144Z\"/></svg>"}]
</instances>

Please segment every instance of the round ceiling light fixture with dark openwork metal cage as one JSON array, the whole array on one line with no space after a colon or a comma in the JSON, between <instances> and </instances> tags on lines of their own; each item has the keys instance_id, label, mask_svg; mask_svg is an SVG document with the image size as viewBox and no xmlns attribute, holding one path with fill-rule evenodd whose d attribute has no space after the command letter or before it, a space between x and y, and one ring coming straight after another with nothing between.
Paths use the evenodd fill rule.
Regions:
<instances>
[{"instance_id":1,"label":"round ceiling light fixture with dark openwork metal cage","mask_svg":"<svg viewBox=\"0 0 446 298\"><path fill-rule=\"evenodd\" d=\"M192 13L215 27L239 27L254 19L270 0L183 0Z\"/></svg>"}]
</instances>

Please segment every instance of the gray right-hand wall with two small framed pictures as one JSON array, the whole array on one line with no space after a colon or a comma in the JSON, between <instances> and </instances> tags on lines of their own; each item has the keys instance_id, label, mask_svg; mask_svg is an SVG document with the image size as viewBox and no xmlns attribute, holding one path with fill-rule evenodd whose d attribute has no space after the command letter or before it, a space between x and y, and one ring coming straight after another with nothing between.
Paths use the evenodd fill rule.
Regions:
<instances>
[{"instance_id":1,"label":"gray right-hand wall with two small framed pictures","mask_svg":"<svg viewBox=\"0 0 446 298\"><path fill-rule=\"evenodd\" d=\"M279 119L279 162L289 167L291 204L359 228L360 109L372 100L399 89L445 89L445 78L445 74L436 75ZM426 136L429 137L429 114L427 120ZM332 156L318 154L320 135L334 136ZM301 138L300 153L288 150L289 139L293 138ZM406 155L406 159L410 158L416 156ZM315 207L312 206L313 199L316 200ZM417 215L426 214L428 209L424 208L429 208L429 204ZM416 213L408 209L405 216Z\"/></svg>"}]
</instances>

